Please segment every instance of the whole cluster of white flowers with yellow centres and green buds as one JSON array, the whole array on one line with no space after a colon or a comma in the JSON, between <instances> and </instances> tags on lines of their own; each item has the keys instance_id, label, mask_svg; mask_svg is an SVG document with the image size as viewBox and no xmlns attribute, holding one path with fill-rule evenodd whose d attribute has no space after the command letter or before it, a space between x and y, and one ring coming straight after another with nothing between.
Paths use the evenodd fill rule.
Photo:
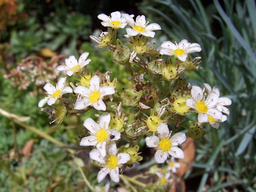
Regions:
<instances>
[{"instance_id":1,"label":"whole cluster of white flowers with yellow centres and green buds","mask_svg":"<svg viewBox=\"0 0 256 192\"><path fill-rule=\"evenodd\" d=\"M51 106L42 110L58 124L68 113L81 115L88 110L99 118L97 122L94 117L84 120L86 129L80 140L80 146L90 150L90 158L101 167L98 182L107 174L111 180L119 182L124 170L142 160L141 148L154 148L155 162L167 165L164 171L158 167L151 174L157 172L160 183L170 185L180 167L175 158L182 159L186 155L180 145L187 136L200 139L206 134L204 123L218 128L219 123L227 119L224 114L229 114L226 106L231 100L220 97L220 91L209 84L204 84L204 88L191 88L187 83L184 72L200 69L200 57L192 58L192 53L201 51L198 43L185 39L175 44L166 41L157 49L150 44L150 38L154 38L155 30L161 30L160 25L146 21L144 15L135 20L134 15L118 11L110 15L98 15L108 31L90 38L97 43L96 48L109 48L114 64L126 68L129 83L118 89L117 84L121 83L118 76L111 81L109 71L104 76L87 70L91 60L89 53L84 52L78 60L69 56L65 65L56 68L70 76L72 88L66 86L66 77L60 78L56 87L47 83L44 86L47 97L40 100L38 106L46 103ZM126 43L118 38L117 31L122 29L127 33ZM75 85L74 80L77 80ZM185 124L180 126L179 123L193 110L198 113L198 122L189 121L186 135L182 130ZM104 113L99 115L99 111ZM175 133L171 135L172 132ZM168 173L170 171L172 174Z\"/></svg>"}]
</instances>

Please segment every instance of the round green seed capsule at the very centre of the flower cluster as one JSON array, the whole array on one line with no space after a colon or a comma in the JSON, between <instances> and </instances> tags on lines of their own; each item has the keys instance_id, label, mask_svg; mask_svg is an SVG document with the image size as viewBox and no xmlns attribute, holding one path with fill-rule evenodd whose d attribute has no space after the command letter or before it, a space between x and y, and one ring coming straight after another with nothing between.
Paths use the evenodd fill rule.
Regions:
<instances>
[{"instance_id":1,"label":"round green seed capsule at the very centre of the flower cluster","mask_svg":"<svg viewBox=\"0 0 256 192\"><path fill-rule=\"evenodd\" d=\"M122 104L129 107L135 107L140 101L140 97L142 96L142 91L136 91L134 89L126 89L122 92L120 98Z\"/></svg>"}]
</instances>

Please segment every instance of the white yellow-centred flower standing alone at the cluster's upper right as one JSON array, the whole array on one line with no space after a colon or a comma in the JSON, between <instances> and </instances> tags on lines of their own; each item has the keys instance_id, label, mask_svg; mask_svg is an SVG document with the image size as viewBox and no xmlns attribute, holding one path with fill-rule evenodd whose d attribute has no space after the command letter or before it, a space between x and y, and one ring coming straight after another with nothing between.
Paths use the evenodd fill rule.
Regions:
<instances>
[{"instance_id":1,"label":"white yellow-centred flower standing alone at the cluster's upper right","mask_svg":"<svg viewBox=\"0 0 256 192\"><path fill-rule=\"evenodd\" d=\"M175 42L176 43L176 42ZM181 61L186 61L189 53L200 52L202 50L198 43L189 43L188 40L183 39L179 44L174 44L170 41L165 41L161 45L161 55L174 55Z\"/></svg>"}]
</instances>

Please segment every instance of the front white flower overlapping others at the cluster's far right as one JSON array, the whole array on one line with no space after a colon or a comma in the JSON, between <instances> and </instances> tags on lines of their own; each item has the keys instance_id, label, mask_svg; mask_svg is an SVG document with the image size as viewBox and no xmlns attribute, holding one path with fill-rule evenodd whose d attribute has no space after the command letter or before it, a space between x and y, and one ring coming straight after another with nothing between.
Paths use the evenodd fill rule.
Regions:
<instances>
[{"instance_id":1,"label":"front white flower overlapping others at the cluster's far right","mask_svg":"<svg viewBox=\"0 0 256 192\"><path fill-rule=\"evenodd\" d=\"M203 90L198 86L192 86L191 98L186 100L186 106L194 109L198 113L198 122L208 122L208 116L220 121L222 120L222 112L216 109L219 96L215 92L205 98Z\"/></svg>"}]
</instances>

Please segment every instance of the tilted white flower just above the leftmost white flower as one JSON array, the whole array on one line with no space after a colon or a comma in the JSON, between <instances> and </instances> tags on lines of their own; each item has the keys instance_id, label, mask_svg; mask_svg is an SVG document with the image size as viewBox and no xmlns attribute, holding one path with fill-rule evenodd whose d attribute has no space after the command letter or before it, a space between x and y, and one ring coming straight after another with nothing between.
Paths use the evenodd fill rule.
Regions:
<instances>
[{"instance_id":1,"label":"tilted white flower just above the leftmost white flower","mask_svg":"<svg viewBox=\"0 0 256 192\"><path fill-rule=\"evenodd\" d=\"M65 59L66 66L60 65L56 68L56 71L66 71L68 76L72 76L73 73L79 73L84 66L90 63L90 59L86 60L88 55L88 52L84 52L78 59L78 62L74 55L69 56L67 59Z\"/></svg>"}]
</instances>

